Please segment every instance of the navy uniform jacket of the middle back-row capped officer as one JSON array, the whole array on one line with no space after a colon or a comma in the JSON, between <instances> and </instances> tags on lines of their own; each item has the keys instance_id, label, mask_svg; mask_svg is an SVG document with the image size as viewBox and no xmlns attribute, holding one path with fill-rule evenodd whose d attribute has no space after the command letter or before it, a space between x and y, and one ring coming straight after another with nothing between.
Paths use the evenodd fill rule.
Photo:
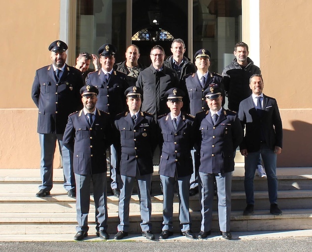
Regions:
<instances>
[{"instance_id":1,"label":"navy uniform jacket of the middle back-row capped officer","mask_svg":"<svg viewBox=\"0 0 312 252\"><path fill-rule=\"evenodd\" d=\"M105 74L100 69L97 72L89 73L85 80L86 85L93 85L99 89L96 108L110 113L112 118L126 109L124 91L128 84L125 78L125 74L113 71L109 82L106 83Z\"/></svg>"}]
</instances>

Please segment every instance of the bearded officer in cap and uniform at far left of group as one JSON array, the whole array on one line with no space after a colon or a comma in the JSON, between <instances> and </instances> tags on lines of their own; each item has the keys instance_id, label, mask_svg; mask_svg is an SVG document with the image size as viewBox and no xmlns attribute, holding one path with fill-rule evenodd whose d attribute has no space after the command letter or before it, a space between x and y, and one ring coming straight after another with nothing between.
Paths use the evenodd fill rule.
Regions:
<instances>
[{"instance_id":1,"label":"bearded officer in cap and uniform at far left of group","mask_svg":"<svg viewBox=\"0 0 312 252\"><path fill-rule=\"evenodd\" d=\"M68 196L76 196L73 157L62 139L68 115L81 108L79 90L83 86L83 79L79 70L65 63L66 50L67 45L63 41L53 42L49 46L52 65L38 69L32 84L31 97L39 109L38 133L41 146L42 184L37 197L50 195L56 141L61 150L64 188Z\"/></svg>"}]
</instances>

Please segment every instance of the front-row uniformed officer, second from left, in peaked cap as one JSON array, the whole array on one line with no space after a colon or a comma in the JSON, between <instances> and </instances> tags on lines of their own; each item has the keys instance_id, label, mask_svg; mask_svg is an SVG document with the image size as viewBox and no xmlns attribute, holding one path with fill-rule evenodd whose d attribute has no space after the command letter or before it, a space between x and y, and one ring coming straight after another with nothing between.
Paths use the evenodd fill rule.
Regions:
<instances>
[{"instance_id":1,"label":"front-row uniformed officer, second from left, in peaked cap","mask_svg":"<svg viewBox=\"0 0 312 252\"><path fill-rule=\"evenodd\" d=\"M138 182L142 236L154 240L151 232L151 199L150 188L153 173L153 152L157 145L156 122L153 115L140 111L142 89L130 86L125 91L128 111L115 117L116 140L120 140L121 187L118 215L120 223L114 239L120 240L128 235L129 204L135 180ZM116 144L117 145L117 144Z\"/></svg>"}]
</instances>

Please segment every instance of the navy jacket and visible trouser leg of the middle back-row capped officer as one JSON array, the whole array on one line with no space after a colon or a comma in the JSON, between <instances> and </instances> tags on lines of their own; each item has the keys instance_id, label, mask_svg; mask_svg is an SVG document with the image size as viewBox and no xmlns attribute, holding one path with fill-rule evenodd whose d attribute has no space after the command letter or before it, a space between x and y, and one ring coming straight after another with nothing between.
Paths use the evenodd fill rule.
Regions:
<instances>
[{"instance_id":1,"label":"navy jacket and visible trouser leg of the middle back-row capped officer","mask_svg":"<svg viewBox=\"0 0 312 252\"><path fill-rule=\"evenodd\" d=\"M110 79L107 81L105 79L104 72L100 69L97 72L88 74L85 84L93 85L99 89L99 94L97 95L96 107L99 110L108 112L111 114L112 119L115 115L126 110L124 91L129 86L126 82L126 75L120 72L113 71ZM117 175L116 170L116 159L117 155L115 146L111 146L111 188L118 188L119 175Z\"/></svg>"}]
</instances>

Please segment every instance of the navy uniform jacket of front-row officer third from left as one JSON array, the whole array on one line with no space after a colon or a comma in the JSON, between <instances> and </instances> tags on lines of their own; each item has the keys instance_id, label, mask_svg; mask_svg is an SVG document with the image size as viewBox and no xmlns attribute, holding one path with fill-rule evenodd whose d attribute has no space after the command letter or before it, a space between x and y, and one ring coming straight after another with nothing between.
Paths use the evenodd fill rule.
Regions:
<instances>
[{"instance_id":1,"label":"navy uniform jacket of front-row officer third from left","mask_svg":"<svg viewBox=\"0 0 312 252\"><path fill-rule=\"evenodd\" d=\"M177 129L174 130L170 114L160 116L162 154L159 174L168 177L184 177L193 173L191 149L194 146L194 116L181 114Z\"/></svg>"}]
</instances>

